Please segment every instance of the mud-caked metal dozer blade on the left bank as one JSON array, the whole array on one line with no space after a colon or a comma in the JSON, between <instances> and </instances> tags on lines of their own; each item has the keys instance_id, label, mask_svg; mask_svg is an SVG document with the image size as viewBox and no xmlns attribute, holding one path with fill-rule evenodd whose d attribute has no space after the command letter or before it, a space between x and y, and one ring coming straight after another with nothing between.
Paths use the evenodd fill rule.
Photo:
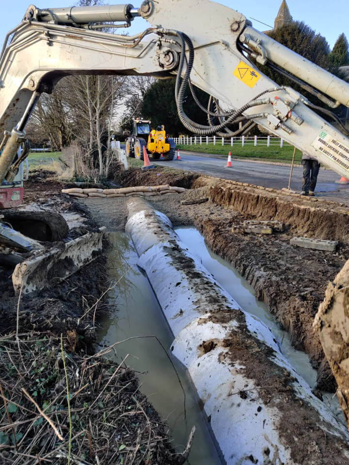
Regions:
<instances>
[{"instance_id":1,"label":"mud-caked metal dozer blade on the left bank","mask_svg":"<svg viewBox=\"0 0 349 465\"><path fill-rule=\"evenodd\" d=\"M54 286L76 273L82 266L91 263L102 249L105 227L96 233L84 234L77 239L60 243L47 252L43 251L18 263L12 274L15 293L23 294Z\"/></svg>"}]
</instances>

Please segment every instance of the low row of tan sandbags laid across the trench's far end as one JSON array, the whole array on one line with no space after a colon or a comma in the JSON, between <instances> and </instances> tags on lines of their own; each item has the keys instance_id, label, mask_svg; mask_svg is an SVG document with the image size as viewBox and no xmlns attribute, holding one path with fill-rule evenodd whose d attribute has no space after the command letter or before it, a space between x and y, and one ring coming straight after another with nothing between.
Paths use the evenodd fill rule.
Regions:
<instances>
[{"instance_id":1,"label":"low row of tan sandbags laid across the trench's far end","mask_svg":"<svg viewBox=\"0 0 349 465\"><path fill-rule=\"evenodd\" d=\"M69 194L72 197L130 197L133 195L150 197L161 194L179 194L186 190L184 187L163 184L161 186L120 187L119 189L79 189L73 187L71 189L62 189L62 193Z\"/></svg>"}]
</instances>

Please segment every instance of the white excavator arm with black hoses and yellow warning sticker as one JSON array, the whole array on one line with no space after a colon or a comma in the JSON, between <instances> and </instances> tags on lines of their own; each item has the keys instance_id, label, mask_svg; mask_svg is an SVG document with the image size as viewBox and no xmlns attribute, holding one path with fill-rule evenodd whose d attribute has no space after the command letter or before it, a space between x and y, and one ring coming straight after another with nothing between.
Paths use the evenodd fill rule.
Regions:
<instances>
[{"instance_id":1,"label":"white excavator arm with black hoses and yellow warning sticker","mask_svg":"<svg viewBox=\"0 0 349 465\"><path fill-rule=\"evenodd\" d=\"M135 16L151 25L136 36L99 30L106 21L125 26ZM349 177L345 128L326 122L304 96L278 86L250 58L280 66L307 90L315 88L330 107L349 106L349 84L256 31L245 16L219 3L145 0L140 8L125 4L46 10L31 5L10 33L0 58L1 181L14 177L19 160L12 163L40 94L52 92L60 78L72 74L177 75L174 98L189 131L229 137L258 123ZM206 126L185 114L188 84L193 93L196 86L211 95L208 109L197 101L208 114ZM215 117L219 124L212 123ZM242 127L233 130L237 123Z\"/></svg>"}]
</instances>

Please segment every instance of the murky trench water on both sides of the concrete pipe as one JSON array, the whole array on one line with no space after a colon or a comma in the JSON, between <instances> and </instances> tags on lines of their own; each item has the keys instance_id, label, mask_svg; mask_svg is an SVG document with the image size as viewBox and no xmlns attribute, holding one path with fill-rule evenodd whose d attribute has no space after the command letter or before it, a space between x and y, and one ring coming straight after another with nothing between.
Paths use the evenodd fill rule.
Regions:
<instances>
[{"instance_id":1,"label":"murky trench water on both sides of the concrete pipe","mask_svg":"<svg viewBox=\"0 0 349 465\"><path fill-rule=\"evenodd\" d=\"M229 263L213 253L204 237L193 227L176 227L175 232L191 253L200 257L202 264L222 287L251 315L259 318L270 328L281 351L311 386L316 384L317 372L310 364L309 357L292 347L289 334L282 330L263 302L256 300L254 290ZM154 408L168 424L176 452L186 445L192 425L196 433L188 463L221 464L219 448L211 436L203 404L199 401L195 387L185 367L174 357L169 361L167 350L173 342L173 334L159 307L148 279L137 267L138 255L132 241L125 233L111 233L111 251L108 269L111 280L116 283L109 294L113 311L100 319L98 341L115 347L113 356L118 362L127 356L126 363L139 373L141 391L148 397ZM163 347L153 337L156 336ZM184 418L184 394L177 374L185 391L186 418ZM338 402L332 395L324 395L338 419L342 414Z\"/></svg>"}]
</instances>

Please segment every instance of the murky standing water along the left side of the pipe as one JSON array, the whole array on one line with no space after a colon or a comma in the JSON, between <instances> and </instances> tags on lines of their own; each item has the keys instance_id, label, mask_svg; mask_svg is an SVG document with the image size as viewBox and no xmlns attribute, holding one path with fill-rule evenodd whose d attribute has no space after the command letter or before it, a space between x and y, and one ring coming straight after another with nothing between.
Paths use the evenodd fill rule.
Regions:
<instances>
[{"instance_id":1,"label":"murky standing water along the left side of the pipe","mask_svg":"<svg viewBox=\"0 0 349 465\"><path fill-rule=\"evenodd\" d=\"M138 256L132 242L125 233L112 233L109 239L112 244L108 257L109 276L116 283L109 299L115 311L99 322L99 342L111 345L128 338L157 336L168 350L173 336L148 279L137 268ZM167 420L177 452L185 448L191 427L196 426L189 464L221 464L208 432L207 421L184 367L171 353L169 355L172 363L170 362L159 341L151 337L125 341L116 346L114 358L120 362L128 354L126 363L140 373L142 392L161 418ZM184 392L176 372L185 391L186 419Z\"/></svg>"}]
</instances>

